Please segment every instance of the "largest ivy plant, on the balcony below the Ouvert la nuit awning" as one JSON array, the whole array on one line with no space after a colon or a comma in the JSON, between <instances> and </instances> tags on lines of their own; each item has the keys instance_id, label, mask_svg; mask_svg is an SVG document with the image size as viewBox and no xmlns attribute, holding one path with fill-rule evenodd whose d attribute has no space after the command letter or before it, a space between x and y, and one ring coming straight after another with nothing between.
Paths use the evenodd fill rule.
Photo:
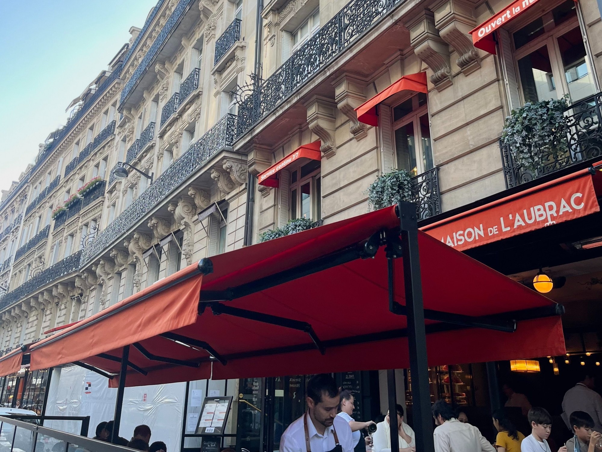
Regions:
<instances>
[{"instance_id":1,"label":"largest ivy plant, on the balcony below the Ouvert la nuit awning","mask_svg":"<svg viewBox=\"0 0 602 452\"><path fill-rule=\"evenodd\" d=\"M567 99L527 102L507 116L501 141L523 168L536 171L568 154L568 128L563 115L568 109Z\"/></svg>"}]
</instances>

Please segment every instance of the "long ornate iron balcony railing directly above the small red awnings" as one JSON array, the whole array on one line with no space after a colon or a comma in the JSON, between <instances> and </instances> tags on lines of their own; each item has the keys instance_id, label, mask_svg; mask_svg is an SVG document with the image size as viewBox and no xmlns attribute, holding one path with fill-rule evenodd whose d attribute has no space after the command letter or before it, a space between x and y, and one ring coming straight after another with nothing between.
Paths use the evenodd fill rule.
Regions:
<instances>
[{"instance_id":1,"label":"long ornate iron balcony railing directly above the small red awnings","mask_svg":"<svg viewBox=\"0 0 602 452\"><path fill-rule=\"evenodd\" d=\"M243 136L320 69L341 54L380 18L406 0L352 0L320 31L276 69L238 105L238 132ZM217 43L216 43L217 45Z\"/></svg>"}]
</instances>

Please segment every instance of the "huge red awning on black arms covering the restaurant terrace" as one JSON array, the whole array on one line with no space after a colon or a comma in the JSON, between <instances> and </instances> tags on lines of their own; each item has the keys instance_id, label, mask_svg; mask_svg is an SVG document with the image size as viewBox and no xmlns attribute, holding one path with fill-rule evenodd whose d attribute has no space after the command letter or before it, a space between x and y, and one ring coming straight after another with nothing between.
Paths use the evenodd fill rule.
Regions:
<instances>
[{"instance_id":1,"label":"huge red awning on black arms covering the restaurant terrace","mask_svg":"<svg viewBox=\"0 0 602 452\"><path fill-rule=\"evenodd\" d=\"M189 266L32 345L31 369L79 361L116 374L127 344L128 386L339 372L350 362L408 368L407 322L389 311L384 247L366 242L399 228L393 206L213 256L202 287L199 267ZM418 245L429 365L565 353L553 301L420 231ZM366 249L373 259L360 258ZM402 258L394 278L403 306ZM448 323L458 315L514 319L517 328Z\"/></svg>"}]
</instances>

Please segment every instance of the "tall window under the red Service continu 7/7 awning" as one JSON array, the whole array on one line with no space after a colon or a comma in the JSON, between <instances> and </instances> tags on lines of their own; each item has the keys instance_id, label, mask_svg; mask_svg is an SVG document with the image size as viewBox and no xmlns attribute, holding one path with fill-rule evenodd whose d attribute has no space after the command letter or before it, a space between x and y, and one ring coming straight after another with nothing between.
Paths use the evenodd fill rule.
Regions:
<instances>
[{"instance_id":1,"label":"tall window under the red Service continu 7/7 awning","mask_svg":"<svg viewBox=\"0 0 602 452\"><path fill-rule=\"evenodd\" d=\"M322 218L319 160L312 160L291 171L290 209L291 219L311 218L317 221Z\"/></svg>"}]
</instances>

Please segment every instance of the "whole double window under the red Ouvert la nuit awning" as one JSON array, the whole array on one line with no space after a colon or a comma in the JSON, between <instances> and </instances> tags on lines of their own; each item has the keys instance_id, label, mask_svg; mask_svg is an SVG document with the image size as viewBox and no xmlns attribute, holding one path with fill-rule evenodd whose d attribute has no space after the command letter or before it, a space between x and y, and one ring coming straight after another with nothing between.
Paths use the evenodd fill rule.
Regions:
<instances>
[{"instance_id":1,"label":"whole double window under the red Ouvert la nuit awning","mask_svg":"<svg viewBox=\"0 0 602 452\"><path fill-rule=\"evenodd\" d=\"M568 94L574 103L596 93L573 0L515 31L512 40L524 102Z\"/></svg>"}]
</instances>

